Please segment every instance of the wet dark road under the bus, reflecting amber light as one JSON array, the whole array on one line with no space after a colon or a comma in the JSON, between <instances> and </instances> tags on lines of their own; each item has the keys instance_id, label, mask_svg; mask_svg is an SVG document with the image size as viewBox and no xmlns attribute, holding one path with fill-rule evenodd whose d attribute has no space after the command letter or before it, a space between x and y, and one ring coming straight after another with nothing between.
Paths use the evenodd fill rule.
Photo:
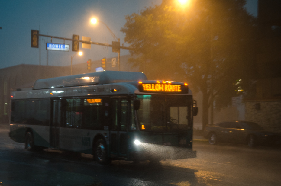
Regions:
<instances>
[{"instance_id":1,"label":"wet dark road under the bus, reflecting amber light","mask_svg":"<svg viewBox=\"0 0 281 186\"><path fill-rule=\"evenodd\" d=\"M103 166L91 161L89 155L58 150L27 152L24 144L8 137L8 128L0 126L0 173L6 172L12 178L13 174L65 171L99 178L104 186L280 185L281 149L249 149L246 145L229 144L211 146L202 142L194 142L193 149L197 150L194 159L166 160L157 164L113 161Z\"/></svg>"}]
</instances>

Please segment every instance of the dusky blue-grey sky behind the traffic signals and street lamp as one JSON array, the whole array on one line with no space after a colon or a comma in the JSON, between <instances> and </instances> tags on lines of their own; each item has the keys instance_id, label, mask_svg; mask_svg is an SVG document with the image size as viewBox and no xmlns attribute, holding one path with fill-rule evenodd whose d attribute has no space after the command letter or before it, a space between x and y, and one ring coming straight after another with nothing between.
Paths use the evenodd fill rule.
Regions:
<instances>
[{"instance_id":1,"label":"dusky blue-grey sky behind the traffic signals and street lamp","mask_svg":"<svg viewBox=\"0 0 281 186\"><path fill-rule=\"evenodd\" d=\"M257 1L247 0L246 9L257 16ZM103 21L124 43L125 34L120 29L126 23L125 16L138 13L145 7L159 5L162 0L0 0L0 69L19 64L47 65L46 42L49 37L39 37L40 48L31 48L31 30L40 30L40 34L72 38L72 34L91 37L91 41L109 43L113 37L99 23L92 25L90 19L95 17ZM53 43L63 44L63 40L53 39ZM48 65L70 65L71 41L69 52L48 51ZM124 46L128 46L124 43ZM74 56L73 64L83 63L88 59L98 60L103 57L117 56L111 47L91 45L91 49L79 49L82 56ZM121 49L120 55L129 54Z\"/></svg>"}]
</instances>

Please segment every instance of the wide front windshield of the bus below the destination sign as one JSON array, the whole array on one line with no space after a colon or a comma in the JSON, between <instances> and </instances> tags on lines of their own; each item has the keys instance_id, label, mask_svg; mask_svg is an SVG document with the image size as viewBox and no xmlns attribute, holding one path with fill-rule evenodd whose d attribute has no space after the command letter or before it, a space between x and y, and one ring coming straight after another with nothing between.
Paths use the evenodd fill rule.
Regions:
<instances>
[{"instance_id":1,"label":"wide front windshield of the bus below the destination sign","mask_svg":"<svg viewBox=\"0 0 281 186\"><path fill-rule=\"evenodd\" d=\"M192 129L190 95L137 95L140 129L173 132Z\"/></svg>"}]
</instances>

